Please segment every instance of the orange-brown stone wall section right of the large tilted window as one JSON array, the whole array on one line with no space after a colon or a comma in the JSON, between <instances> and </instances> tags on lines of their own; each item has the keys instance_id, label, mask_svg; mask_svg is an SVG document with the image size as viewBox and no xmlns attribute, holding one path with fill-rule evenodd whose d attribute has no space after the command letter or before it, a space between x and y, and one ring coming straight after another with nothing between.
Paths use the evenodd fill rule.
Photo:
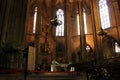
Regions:
<instances>
[{"instance_id":1,"label":"orange-brown stone wall section right of the large tilted window","mask_svg":"<svg viewBox=\"0 0 120 80\"><path fill-rule=\"evenodd\" d=\"M110 12L110 21L111 26L116 28L116 31L114 31L114 34L116 34L116 39L120 41L120 0L111 0L108 2L108 8Z\"/></svg>"}]
</instances>

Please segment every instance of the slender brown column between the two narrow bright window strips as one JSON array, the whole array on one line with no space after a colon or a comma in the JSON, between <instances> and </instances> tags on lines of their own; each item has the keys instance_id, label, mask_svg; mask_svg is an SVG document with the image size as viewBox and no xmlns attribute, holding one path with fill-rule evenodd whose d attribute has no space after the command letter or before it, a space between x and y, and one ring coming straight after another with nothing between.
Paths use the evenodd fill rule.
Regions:
<instances>
[{"instance_id":1,"label":"slender brown column between the two narrow bright window strips","mask_svg":"<svg viewBox=\"0 0 120 80\"><path fill-rule=\"evenodd\" d=\"M83 4L82 1L78 1L79 9L79 20L80 20L80 50L81 50L81 61L86 61L86 37L84 29L84 20L83 20Z\"/></svg>"}]
</instances>

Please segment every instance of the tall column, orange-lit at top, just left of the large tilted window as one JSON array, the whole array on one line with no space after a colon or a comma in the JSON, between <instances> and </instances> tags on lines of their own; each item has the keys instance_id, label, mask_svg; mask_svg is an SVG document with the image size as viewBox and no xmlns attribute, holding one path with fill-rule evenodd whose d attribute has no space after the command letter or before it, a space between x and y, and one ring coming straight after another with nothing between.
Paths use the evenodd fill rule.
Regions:
<instances>
[{"instance_id":1,"label":"tall column, orange-lit at top, just left of the large tilted window","mask_svg":"<svg viewBox=\"0 0 120 80\"><path fill-rule=\"evenodd\" d=\"M93 1L91 0L91 19L92 19L92 30L93 30L93 40L94 40L94 61L95 64L98 64L100 62L99 55L100 55L100 49L98 46L100 46L100 40L98 41L97 37L97 31L100 30L100 24L98 19L98 13L96 6L97 6L97 0ZM96 26L97 25L97 26ZM99 37L100 38L100 37Z\"/></svg>"}]
</instances>

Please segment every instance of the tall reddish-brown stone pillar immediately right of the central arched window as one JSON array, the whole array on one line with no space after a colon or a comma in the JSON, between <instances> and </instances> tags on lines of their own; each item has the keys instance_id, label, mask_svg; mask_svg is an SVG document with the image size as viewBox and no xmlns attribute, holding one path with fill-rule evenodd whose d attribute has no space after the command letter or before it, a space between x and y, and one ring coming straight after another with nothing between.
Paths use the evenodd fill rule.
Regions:
<instances>
[{"instance_id":1,"label":"tall reddish-brown stone pillar immediately right of the central arched window","mask_svg":"<svg viewBox=\"0 0 120 80\"><path fill-rule=\"evenodd\" d=\"M65 58L67 62L71 61L71 13L70 13L70 4L68 1L65 1Z\"/></svg>"}]
</instances>

